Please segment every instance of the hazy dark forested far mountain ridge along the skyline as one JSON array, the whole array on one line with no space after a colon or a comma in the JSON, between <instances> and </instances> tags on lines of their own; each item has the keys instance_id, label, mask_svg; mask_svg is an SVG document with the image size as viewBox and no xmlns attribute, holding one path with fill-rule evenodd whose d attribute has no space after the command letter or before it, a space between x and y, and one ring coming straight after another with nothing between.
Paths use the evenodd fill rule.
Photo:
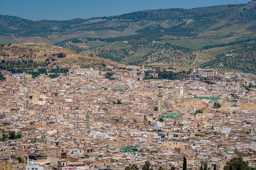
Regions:
<instances>
[{"instance_id":1,"label":"hazy dark forested far mountain ridge along the skyline","mask_svg":"<svg viewBox=\"0 0 256 170\"><path fill-rule=\"evenodd\" d=\"M166 28L160 28L164 32L159 36L173 35L177 37L198 37L200 32L214 27L219 22L225 20L230 24L242 24L256 19L256 2L238 5L220 5L204 8L193 9L161 9L161 10L144 10L118 16L109 16L91 19L72 19L68 21L31 21L16 16L0 15L0 35L10 37L49 37L51 35L73 35L79 37L78 34L85 31L109 31L114 30L124 32L131 27L145 27L147 25L164 24ZM171 27L179 22L186 22L184 27ZM183 26L183 25L181 25ZM223 26L223 27L225 27ZM218 29L215 28L215 29ZM219 27L220 29L220 27ZM193 34L190 34L194 32ZM188 34L189 33L189 34ZM132 32L130 32L132 34ZM156 34L155 32L153 34ZM124 33L120 35L129 35ZM97 35L96 35L97 36ZM117 37L117 35L109 35L109 37ZM95 37L91 35L91 37ZM105 37L100 37L105 38ZM108 38L108 36L106 36ZM114 41L114 39L113 39Z\"/></svg>"}]
</instances>

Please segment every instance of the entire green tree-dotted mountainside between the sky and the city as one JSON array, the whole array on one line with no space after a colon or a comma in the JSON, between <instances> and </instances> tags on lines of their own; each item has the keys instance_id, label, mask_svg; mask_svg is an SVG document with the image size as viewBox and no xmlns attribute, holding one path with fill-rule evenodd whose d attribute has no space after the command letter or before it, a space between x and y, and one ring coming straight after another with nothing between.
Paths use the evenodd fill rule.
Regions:
<instances>
[{"instance_id":1,"label":"entire green tree-dotted mountainside between the sky and the city","mask_svg":"<svg viewBox=\"0 0 256 170\"><path fill-rule=\"evenodd\" d=\"M0 15L0 43L25 43L31 39L126 65L144 63L179 70L214 67L214 63L222 69L255 72L253 65L233 68L225 59L228 53L245 57L237 51L244 51L244 43L256 38L255 29L256 1L68 21L31 21Z\"/></svg>"}]
</instances>

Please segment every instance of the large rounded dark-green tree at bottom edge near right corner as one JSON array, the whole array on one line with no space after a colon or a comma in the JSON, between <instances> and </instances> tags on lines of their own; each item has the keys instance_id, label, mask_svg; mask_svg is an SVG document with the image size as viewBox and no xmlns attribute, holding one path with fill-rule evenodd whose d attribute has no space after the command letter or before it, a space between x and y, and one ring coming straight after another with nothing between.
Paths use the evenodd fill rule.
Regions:
<instances>
[{"instance_id":1,"label":"large rounded dark-green tree at bottom edge near right corner","mask_svg":"<svg viewBox=\"0 0 256 170\"><path fill-rule=\"evenodd\" d=\"M234 157L230 159L224 166L224 170L250 170L248 162L245 162L241 157Z\"/></svg>"}]
</instances>

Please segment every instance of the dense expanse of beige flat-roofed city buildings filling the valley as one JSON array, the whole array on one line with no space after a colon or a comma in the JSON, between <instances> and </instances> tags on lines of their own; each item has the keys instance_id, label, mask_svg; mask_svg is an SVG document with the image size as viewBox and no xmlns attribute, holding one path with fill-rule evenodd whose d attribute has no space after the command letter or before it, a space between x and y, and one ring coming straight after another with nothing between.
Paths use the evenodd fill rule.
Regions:
<instances>
[{"instance_id":1,"label":"dense expanse of beige flat-roofed city buildings filling the valley","mask_svg":"<svg viewBox=\"0 0 256 170\"><path fill-rule=\"evenodd\" d=\"M217 157L220 163L226 162L226 152L234 151L234 148L238 148L238 154L240 151L246 154L248 148L255 148L255 109L246 112L247 106L242 109L243 106L238 104L254 106L255 91L243 94L244 88L238 83L232 85L232 80L229 84L224 80L216 82L218 85L212 86L219 91L212 91L212 87L199 81L141 81L122 77L119 73L114 73L115 80L101 82L82 78L68 80L62 75L56 79L42 75L40 79L13 78L11 82L3 82L0 85L0 106L3 108L0 112L5 117L0 124L10 123L2 124L2 128L22 133L21 138L11 140L12 143L10 140L0 143L6 147L2 147L3 151L12 149L24 156L35 156L33 152L37 151L37 154L41 153L41 162L54 157L54 160L60 158L62 165L67 162L67 167L79 165L81 168L80 165L85 164L90 169L95 168L95 164L124 169L131 162L143 167L148 159L156 169L161 163L171 167L170 162L176 169L181 169L180 161L185 156L188 165L193 164L192 168L196 169L202 161L194 160L195 156L202 157L205 162ZM15 81L23 83L15 86ZM179 96L181 85L184 96ZM226 87L236 89L224 90ZM18 95L21 92L24 94ZM163 112L155 111L159 93L163 99ZM234 98L238 94L243 97ZM122 104L113 105L117 100ZM216 111L212 109L215 101L222 105L221 109L231 109L224 109L225 114ZM11 105L13 103L15 106ZM204 112L194 115L199 109ZM77 160L81 161L72 162ZM58 166L56 162L53 164ZM213 169L212 166L208 168Z\"/></svg>"}]
</instances>

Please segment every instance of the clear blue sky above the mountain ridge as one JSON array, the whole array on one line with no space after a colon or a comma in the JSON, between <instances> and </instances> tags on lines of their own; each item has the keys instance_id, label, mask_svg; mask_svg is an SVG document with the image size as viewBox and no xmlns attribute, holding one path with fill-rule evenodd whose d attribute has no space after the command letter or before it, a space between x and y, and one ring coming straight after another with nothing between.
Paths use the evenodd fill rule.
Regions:
<instances>
[{"instance_id":1,"label":"clear blue sky above the mountain ridge","mask_svg":"<svg viewBox=\"0 0 256 170\"><path fill-rule=\"evenodd\" d=\"M250 0L5 0L0 14L19 16L33 21L68 20L113 16L140 10L196 8L203 6L247 3Z\"/></svg>"}]
</instances>

